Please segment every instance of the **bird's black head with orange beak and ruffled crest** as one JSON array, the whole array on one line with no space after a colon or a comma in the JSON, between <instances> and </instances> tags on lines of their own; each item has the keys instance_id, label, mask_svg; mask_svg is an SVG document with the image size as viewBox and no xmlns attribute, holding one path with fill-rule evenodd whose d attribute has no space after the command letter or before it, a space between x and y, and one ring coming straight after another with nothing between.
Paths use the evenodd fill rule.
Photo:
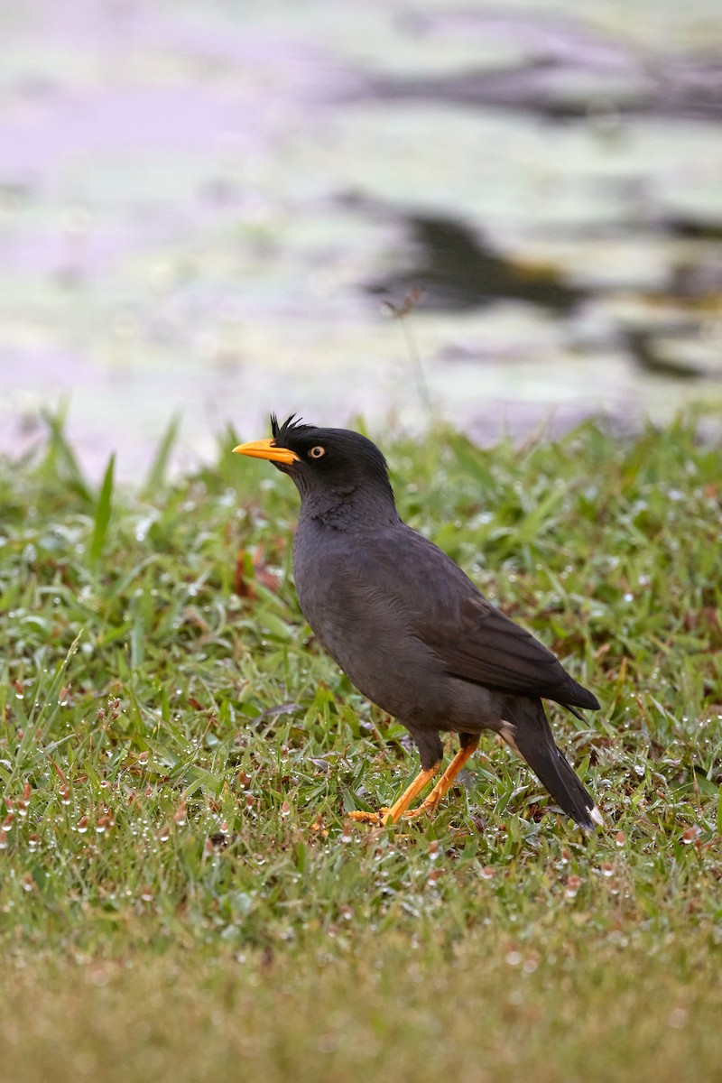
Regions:
<instances>
[{"instance_id":1,"label":"bird's black head with orange beak and ruffled crest","mask_svg":"<svg viewBox=\"0 0 722 1083\"><path fill-rule=\"evenodd\" d=\"M393 505L386 460L359 432L302 425L293 415L278 425L275 414L271 431L270 440L239 444L234 452L268 459L291 478L304 503L336 505L341 498L353 505L376 498Z\"/></svg>"}]
</instances>

